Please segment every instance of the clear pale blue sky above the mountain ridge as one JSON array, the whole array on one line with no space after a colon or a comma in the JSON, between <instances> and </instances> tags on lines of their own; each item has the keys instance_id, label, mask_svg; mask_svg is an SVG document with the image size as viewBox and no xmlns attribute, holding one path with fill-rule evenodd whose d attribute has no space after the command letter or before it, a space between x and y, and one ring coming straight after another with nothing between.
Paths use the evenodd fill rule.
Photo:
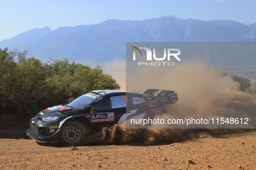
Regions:
<instances>
[{"instance_id":1,"label":"clear pale blue sky above the mountain ridge","mask_svg":"<svg viewBox=\"0 0 256 170\"><path fill-rule=\"evenodd\" d=\"M256 22L256 0L4 0L0 41L32 28L98 24L107 19L143 20L173 15L181 19Z\"/></svg>"}]
</instances>

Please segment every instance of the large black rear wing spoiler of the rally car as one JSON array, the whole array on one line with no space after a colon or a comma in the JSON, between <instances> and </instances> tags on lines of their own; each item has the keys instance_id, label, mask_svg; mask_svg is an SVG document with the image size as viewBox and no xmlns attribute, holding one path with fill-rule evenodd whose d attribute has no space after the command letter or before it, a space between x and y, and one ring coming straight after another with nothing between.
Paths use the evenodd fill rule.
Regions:
<instances>
[{"instance_id":1,"label":"large black rear wing spoiler of the rally car","mask_svg":"<svg viewBox=\"0 0 256 170\"><path fill-rule=\"evenodd\" d=\"M159 104L174 104L178 101L178 94L176 91L147 89L143 94L154 96Z\"/></svg>"}]
</instances>

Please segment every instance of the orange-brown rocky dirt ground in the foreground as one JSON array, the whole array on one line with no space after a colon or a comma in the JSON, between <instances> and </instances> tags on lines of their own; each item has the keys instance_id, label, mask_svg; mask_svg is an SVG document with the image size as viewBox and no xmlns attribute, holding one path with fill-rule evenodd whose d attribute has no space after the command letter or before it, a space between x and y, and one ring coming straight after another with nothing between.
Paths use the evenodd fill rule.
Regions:
<instances>
[{"instance_id":1,"label":"orange-brown rocky dirt ground in the foreground","mask_svg":"<svg viewBox=\"0 0 256 170\"><path fill-rule=\"evenodd\" d=\"M8 138L8 132L3 132L0 137L5 134ZM204 134L198 139L153 146L133 143L71 148L32 139L0 139L0 169L256 170L255 145L255 131Z\"/></svg>"}]
</instances>

